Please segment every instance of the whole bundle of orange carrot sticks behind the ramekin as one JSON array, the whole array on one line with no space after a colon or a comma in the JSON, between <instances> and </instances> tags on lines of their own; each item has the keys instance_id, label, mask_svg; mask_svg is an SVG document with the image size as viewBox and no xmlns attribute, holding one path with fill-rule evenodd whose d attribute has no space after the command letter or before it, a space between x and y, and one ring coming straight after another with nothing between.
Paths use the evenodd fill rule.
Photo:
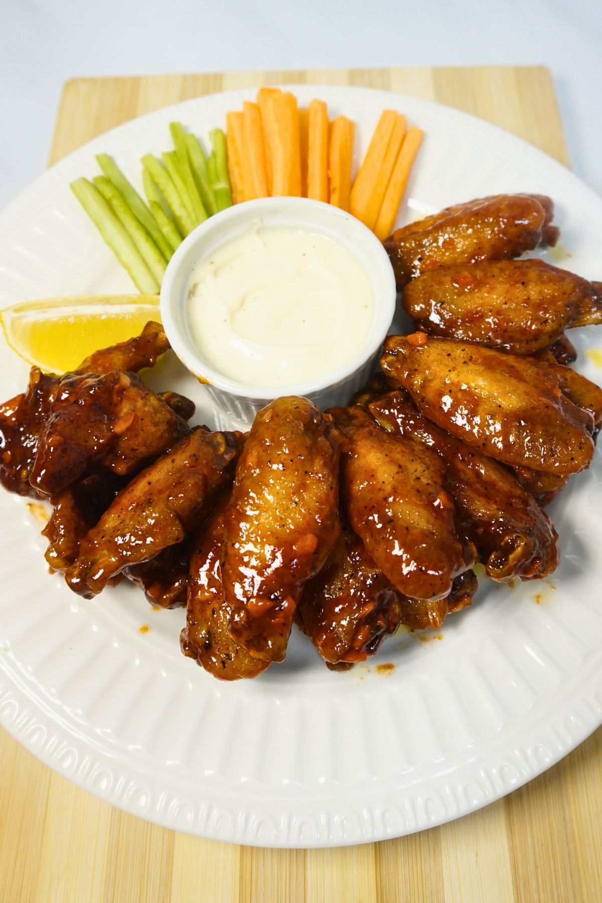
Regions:
<instances>
[{"instance_id":1,"label":"whole bundle of orange carrot sticks behind the ramekin","mask_svg":"<svg viewBox=\"0 0 602 903\"><path fill-rule=\"evenodd\" d=\"M227 159L236 203L292 195L347 210L382 241L394 228L422 131L384 110L352 183L355 125L329 122L323 100L300 109L289 91L260 88L227 114Z\"/></svg>"}]
</instances>

